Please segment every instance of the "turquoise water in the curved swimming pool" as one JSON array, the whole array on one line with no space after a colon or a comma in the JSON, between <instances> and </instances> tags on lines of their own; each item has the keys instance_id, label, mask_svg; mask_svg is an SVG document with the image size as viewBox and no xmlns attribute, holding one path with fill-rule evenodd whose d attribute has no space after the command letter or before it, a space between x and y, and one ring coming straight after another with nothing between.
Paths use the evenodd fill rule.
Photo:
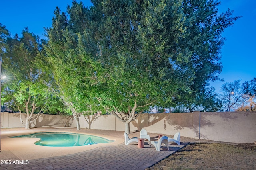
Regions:
<instances>
[{"instance_id":1,"label":"turquoise water in the curved swimming pool","mask_svg":"<svg viewBox=\"0 0 256 170\"><path fill-rule=\"evenodd\" d=\"M29 135L20 135L14 137L34 137L41 138L35 142L36 145L51 146L51 147L71 147L93 145L97 143L111 143L108 139L96 137L92 135L84 135L78 133L62 133L62 132L40 132Z\"/></svg>"}]
</instances>

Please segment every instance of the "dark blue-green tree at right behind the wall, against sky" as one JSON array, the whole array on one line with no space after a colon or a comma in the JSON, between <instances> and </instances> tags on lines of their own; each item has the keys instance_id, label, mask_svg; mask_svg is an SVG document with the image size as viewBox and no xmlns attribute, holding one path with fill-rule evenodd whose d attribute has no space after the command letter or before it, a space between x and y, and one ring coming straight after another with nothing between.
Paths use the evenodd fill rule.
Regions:
<instances>
[{"instance_id":1,"label":"dark blue-green tree at right behind the wall, against sky","mask_svg":"<svg viewBox=\"0 0 256 170\"><path fill-rule=\"evenodd\" d=\"M221 102L214 89L209 87L209 81L218 80L222 70L220 50L225 40L222 33L240 16L231 17L231 10L218 14L220 2L215 0L184 0L182 4L185 17L191 20L186 27L186 43L181 48L190 51L186 66L194 75L190 84L191 92L182 93L183 97L177 102L190 112L218 111Z\"/></svg>"}]
</instances>

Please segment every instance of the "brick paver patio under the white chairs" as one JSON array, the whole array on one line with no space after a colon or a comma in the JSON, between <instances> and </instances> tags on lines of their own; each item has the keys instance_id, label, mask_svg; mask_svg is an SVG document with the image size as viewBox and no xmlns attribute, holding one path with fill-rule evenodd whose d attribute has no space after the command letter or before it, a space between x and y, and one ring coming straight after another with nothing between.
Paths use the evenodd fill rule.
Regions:
<instances>
[{"instance_id":1,"label":"brick paver patio under the white chairs","mask_svg":"<svg viewBox=\"0 0 256 170\"><path fill-rule=\"evenodd\" d=\"M145 148L136 143L102 146L84 152L51 158L28 160L28 164L1 164L0 170L144 170L166 158L188 143L169 145L161 151L145 141Z\"/></svg>"}]
</instances>

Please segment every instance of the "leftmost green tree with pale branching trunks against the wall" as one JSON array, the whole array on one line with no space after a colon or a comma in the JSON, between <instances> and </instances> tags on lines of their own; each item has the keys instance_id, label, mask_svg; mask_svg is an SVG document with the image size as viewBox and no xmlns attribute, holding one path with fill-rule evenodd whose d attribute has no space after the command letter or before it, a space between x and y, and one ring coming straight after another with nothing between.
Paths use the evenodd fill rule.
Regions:
<instances>
[{"instance_id":1,"label":"leftmost green tree with pale branching trunks against the wall","mask_svg":"<svg viewBox=\"0 0 256 170\"><path fill-rule=\"evenodd\" d=\"M36 56L42 53L42 42L25 28L22 37L9 36L4 43L2 67L8 80L3 84L3 97L6 102L16 105L21 122L29 129L30 123L58 102L58 98L48 92L45 75L35 63ZM25 122L21 118L24 112L27 115Z\"/></svg>"}]
</instances>

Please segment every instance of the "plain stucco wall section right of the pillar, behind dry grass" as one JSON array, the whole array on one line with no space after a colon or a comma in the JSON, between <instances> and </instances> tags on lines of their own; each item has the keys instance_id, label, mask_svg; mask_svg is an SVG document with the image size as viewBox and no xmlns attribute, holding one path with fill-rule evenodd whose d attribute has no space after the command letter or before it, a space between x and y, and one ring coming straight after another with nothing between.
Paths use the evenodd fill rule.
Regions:
<instances>
[{"instance_id":1,"label":"plain stucco wall section right of the pillar, behind dry grass","mask_svg":"<svg viewBox=\"0 0 256 170\"><path fill-rule=\"evenodd\" d=\"M200 138L214 141L256 141L256 112L201 113Z\"/></svg>"}]
</instances>

